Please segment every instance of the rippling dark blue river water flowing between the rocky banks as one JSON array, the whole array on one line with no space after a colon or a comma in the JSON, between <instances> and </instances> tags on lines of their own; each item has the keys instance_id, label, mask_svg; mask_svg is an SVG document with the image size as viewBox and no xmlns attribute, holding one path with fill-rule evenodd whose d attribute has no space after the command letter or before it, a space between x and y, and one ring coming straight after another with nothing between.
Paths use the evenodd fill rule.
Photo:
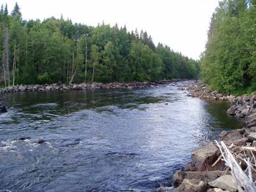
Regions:
<instances>
[{"instance_id":1,"label":"rippling dark blue river water flowing between the rocky banks","mask_svg":"<svg viewBox=\"0 0 256 192\"><path fill-rule=\"evenodd\" d=\"M1 102L10 108L0 114L0 190L168 190L198 137L240 128L228 103L187 97L177 84L8 93Z\"/></svg>"}]
</instances>

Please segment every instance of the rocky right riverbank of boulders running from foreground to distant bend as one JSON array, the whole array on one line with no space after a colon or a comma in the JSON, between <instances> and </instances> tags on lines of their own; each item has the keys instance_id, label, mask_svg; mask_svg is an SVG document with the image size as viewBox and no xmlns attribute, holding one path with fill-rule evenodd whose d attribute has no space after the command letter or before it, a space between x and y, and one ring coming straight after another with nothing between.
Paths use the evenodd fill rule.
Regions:
<instances>
[{"instance_id":1,"label":"rocky right riverbank of boulders running from foreground to distant bend","mask_svg":"<svg viewBox=\"0 0 256 192\"><path fill-rule=\"evenodd\" d=\"M188 96L213 100L228 100L231 107L227 113L237 118L243 118L244 128L219 134L227 146L232 146L236 154L240 154L243 146L256 147L256 93L234 97L230 94L222 94L214 90L208 90L202 82L190 82L180 85L180 90L187 90ZM256 149L256 148L255 148ZM246 158L245 152L242 154ZM252 152L255 153L255 152ZM255 155L255 154L254 154ZM242 169L247 167L241 164ZM256 179L256 171L253 172L253 180ZM185 168L178 170L173 176L173 185L179 191L237 191L233 184L230 170L221 160L220 151L215 143L207 143L192 150L191 161Z\"/></svg>"}]
</instances>

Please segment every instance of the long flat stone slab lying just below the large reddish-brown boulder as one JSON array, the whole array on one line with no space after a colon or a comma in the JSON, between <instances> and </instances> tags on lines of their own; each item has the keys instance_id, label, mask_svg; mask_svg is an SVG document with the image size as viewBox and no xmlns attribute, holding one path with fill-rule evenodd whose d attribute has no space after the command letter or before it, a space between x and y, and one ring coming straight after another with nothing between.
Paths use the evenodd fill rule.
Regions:
<instances>
[{"instance_id":1,"label":"long flat stone slab lying just below the large reddish-brown boulder","mask_svg":"<svg viewBox=\"0 0 256 192\"><path fill-rule=\"evenodd\" d=\"M184 179L196 179L208 183L219 176L225 174L225 171L176 171L173 175L172 183L174 186L182 184Z\"/></svg>"}]
</instances>

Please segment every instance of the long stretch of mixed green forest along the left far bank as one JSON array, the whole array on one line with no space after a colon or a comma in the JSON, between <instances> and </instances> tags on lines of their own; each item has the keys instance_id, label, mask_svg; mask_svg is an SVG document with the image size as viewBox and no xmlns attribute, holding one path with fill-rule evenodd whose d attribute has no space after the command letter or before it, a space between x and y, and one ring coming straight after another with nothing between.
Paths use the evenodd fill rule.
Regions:
<instances>
[{"instance_id":1,"label":"long stretch of mixed green forest along the left far bank","mask_svg":"<svg viewBox=\"0 0 256 192\"><path fill-rule=\"evenodd\" d=\"M18 4L0 11L0 84L195 78L199 64L147 32L48 18L23 20Z\"/></svg>"}]
</instances>

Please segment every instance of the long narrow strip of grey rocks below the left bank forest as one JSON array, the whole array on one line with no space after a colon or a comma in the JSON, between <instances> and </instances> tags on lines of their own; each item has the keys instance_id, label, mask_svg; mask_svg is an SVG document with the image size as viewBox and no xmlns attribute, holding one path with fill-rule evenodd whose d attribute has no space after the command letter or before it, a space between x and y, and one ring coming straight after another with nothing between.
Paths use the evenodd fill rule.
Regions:
<instances>
[{"instance_id":1,"label":"long narrow strip of grey rocks below the left bank forest","mask_svg":"<svg viewBox=\"0 0 256 192\"><path fill-rule=\"evenodd\" d=\"M86 90L86 89L134 89L157 87L159 85L176 83L182 79L158 80L154 82L130 82L130 83L81 83L81 84L63 84L62 82L53 84L35 84L35 85L14 85L0 88L0 93L10 92L44 92L56 90ZM184 79L183 79L184 80Z\"/></svg>"}]
</instances>

